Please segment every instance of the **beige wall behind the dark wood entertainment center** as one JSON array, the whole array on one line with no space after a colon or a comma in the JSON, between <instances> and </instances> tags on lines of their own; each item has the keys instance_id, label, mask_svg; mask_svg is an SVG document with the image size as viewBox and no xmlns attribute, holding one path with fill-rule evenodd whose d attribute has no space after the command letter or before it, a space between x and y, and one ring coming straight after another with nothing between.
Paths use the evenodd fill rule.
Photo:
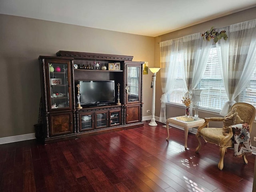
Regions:
<instances>
[{"instance_id":1,"label":"beige wall behind the dark wood entertainment center","mask_svg":"<svg viewBox=\"0 0 256 192\"><path fill-rule=\"evenodd\" d=\"M40 101L38 56L59 50L134 56L154 66L154 38L0 14L0 138L34 132ZM151 106L143 75L143 116ZM150 94L151 95L151 94Z\"/></svg>"}]
</instances>

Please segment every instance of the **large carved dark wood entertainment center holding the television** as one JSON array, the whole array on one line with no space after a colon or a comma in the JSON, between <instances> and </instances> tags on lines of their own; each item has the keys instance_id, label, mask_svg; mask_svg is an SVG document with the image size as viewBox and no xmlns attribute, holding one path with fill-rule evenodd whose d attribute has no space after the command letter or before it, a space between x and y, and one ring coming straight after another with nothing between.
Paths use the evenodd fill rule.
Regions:
<instances>
[{"instance_id":1,"label":"large carved dark wood entertainment center holding the television","mask_svg":"<svg viewBox=\"0 0 256 192\"><path fill-rule=\"evenodd\" d=\"M142 64L133 56L39 56L45 143L143 126Z\"/></svg>"}]
</instances>

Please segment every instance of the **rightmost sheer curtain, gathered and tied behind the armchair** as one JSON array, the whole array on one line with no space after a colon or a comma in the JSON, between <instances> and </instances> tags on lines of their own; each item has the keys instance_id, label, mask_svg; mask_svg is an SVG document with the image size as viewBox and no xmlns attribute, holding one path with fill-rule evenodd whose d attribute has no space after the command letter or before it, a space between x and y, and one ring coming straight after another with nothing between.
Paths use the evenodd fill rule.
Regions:
<instances>
[{"instance_id":1,"label":"rightmost sheer curtain, gathered and tied behind the armchair","mask_svg":"<svg viewBox=\"0 0 256 192\"><path fill-rule=\"evenodd\" d=\"M220 30L226 30L228 35L228 40L221 39L216 43L220 72L229 99L220 112L225 116L256 68L256 19Z\"/></svg>"}]
</instances>

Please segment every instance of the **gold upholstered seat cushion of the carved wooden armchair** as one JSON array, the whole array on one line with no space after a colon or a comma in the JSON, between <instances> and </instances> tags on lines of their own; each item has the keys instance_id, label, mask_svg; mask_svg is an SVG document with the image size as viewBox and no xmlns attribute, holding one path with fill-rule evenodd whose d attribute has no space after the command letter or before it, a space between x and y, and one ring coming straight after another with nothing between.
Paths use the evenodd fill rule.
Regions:
<instances>
[{"instance_id":1,"label":"gold upholstered seat cushion of the carved wooden armchair","mask_svg":"<svg viewBox=\"0 0 256 192\"><path fill-rule=\"evenodd\" d=\"M222 134L222 128L203 128L200 131L204 140L210 143L219 144L220 141L226 137ZM232 140L228 142L228 144L232 143Z\"/></svg>"}]
</instances>

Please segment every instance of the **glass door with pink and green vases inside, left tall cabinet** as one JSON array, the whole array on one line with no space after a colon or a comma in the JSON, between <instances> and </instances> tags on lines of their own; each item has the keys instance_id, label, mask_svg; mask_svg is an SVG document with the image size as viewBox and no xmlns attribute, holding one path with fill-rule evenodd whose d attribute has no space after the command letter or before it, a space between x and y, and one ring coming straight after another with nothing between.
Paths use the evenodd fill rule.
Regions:
<instances>
[{"instance_id":1,"label":"glass door with pink and green vases inside, left tall cabinet","mask_svg":"<svg viewBox=\"0 0 256 192\"><path fill-rule=\"evenodd\" d=\"M48 62L50 110L71 108L69 62Z\"/></svg>"}]
</instances>

